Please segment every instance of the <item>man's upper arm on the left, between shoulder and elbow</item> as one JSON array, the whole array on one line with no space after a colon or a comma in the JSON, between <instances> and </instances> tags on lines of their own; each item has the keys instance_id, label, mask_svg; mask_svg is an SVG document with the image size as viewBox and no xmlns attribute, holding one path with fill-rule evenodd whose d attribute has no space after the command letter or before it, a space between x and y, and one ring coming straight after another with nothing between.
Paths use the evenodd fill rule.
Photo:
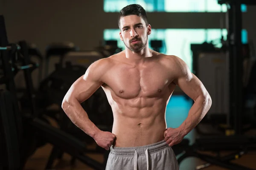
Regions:
<instances>
[{"instance_id":1,"label":"man's upper arm on the left, between shoulder and elbow","mask_svg":"<svg viewBox=\"0 0 256 170\"><path fill-rule=\"evenodd\" d=\"M81 103L88 99L100 86L100 82L84 79L84 76L81 76L73 83L65 97L71 100L77 99Z\"/></svg>"}]
</instances>

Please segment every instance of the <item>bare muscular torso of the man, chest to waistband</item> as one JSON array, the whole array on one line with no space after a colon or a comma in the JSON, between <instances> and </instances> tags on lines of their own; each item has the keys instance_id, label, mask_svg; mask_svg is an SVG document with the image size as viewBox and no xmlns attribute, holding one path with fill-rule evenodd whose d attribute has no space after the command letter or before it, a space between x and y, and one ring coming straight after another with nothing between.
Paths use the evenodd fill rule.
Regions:
<instances>
[{"instance_id":1,"label":"bare muscular torso of the man, chest to waistband","mask_svg":"<svg viewBox=\"0 0 256 170\"><path fill-rule=\"evenodd\" d=\"M160 142L166 130L165 111L175 89L166 56L153 55L143 62L130 62L124 53L112 57L112 67L102 85L113 111L112 133L116 147L143 146Z\"/></svg>"}]
</instances>

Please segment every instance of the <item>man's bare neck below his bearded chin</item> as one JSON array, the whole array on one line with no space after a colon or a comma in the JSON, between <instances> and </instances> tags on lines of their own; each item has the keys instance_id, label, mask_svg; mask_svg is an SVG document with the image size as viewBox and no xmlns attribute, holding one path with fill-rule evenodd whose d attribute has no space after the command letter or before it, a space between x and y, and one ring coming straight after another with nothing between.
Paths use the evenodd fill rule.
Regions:
<instances>
[{"instance_id":1,"label":"man's bare neck below his bearded chin","mask_svg":"<svg viewBox=\"0 0 256 170\"><path fill-rule=\"evenodd\" d=\"M152 57L152 51L148 48L148 45L145 46L140 51L134 52L125 47L125 57L128 59L143 59L146 57Z\"/></svg>"}]
</instances>

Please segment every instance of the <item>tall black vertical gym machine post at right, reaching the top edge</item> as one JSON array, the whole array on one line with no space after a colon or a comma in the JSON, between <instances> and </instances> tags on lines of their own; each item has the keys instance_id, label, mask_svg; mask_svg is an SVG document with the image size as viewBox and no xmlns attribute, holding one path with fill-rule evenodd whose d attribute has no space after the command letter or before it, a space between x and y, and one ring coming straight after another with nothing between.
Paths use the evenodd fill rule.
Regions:
<instances>
[{"instance_id":1,"label":"tall black vertical gym machine post at right, reaching the top edge","mask_svg":"<svg viewBox=\"0 0 256 170\"><path fill-rule=\"evenodd\" d=\"M246 0L236 1L218 1L219 4L228 3L230 8L227 11L228 15L228 55L229 55L229 83L230 83L230 113L232 113L233 121L231 126L235 134L242 133L241 114L243 103L243 58L242 58L242 44L241 44L241 30L242 30L242 14L241 4L252 5ZM254 3L256 5L256 3ZM236 92L236 93L234 93Z\"/></svg>"}]
</instances>

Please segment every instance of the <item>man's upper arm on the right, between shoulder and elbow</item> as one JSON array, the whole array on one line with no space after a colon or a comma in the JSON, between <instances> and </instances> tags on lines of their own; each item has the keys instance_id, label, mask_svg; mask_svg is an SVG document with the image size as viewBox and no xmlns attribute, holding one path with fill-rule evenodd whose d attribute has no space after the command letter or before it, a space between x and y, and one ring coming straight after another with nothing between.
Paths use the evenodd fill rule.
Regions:
<instances>
[{"instance_id":1,"label":"man's upper arm on the right, between shoulder and elbow","mask_svg":"<svg viewBox=\"0 0 256 170\"><path fill-rule=\"evenodd\" d=\"M193 100L199 95L204 95L207 92L203 83L192 73L189 77L181 77L177 79L176 82L180 89Z\"/></svg>"}]
</instances>

